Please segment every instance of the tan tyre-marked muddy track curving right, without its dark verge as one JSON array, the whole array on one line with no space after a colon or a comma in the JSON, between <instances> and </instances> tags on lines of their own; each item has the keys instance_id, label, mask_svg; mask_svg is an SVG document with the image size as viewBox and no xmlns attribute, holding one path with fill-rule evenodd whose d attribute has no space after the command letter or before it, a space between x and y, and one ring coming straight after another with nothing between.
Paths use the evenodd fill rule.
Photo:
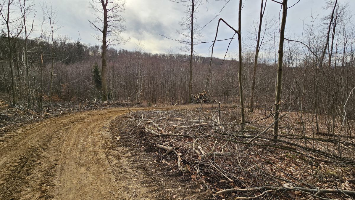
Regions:
<instances>
[{"instance_id":1,"label":"tan tyre-marked muddy track curving right, without its dark verge","mask_svg":"<svg viewBox=\"0 0 355 200\"><path fill-rule=\"evenodd\" d=\"M198 105L174 109L193 107ZM122 199L114 191L134 183L114 175L117 172L105 146L112 141L110 121L127 112L127 108L78 112L4 135L0 138L0 199ZM130 157L126 159L120 162Z\"/></svg>"}]
</instances>

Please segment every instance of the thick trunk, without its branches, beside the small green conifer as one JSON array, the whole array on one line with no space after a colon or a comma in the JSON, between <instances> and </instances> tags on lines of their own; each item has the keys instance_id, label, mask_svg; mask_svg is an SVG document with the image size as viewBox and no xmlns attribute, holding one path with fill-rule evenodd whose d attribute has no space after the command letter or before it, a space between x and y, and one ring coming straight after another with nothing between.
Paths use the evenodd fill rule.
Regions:
<instances>
[{"instance_id":1,"label":"thick trunk, without its branches, beside the small green conifer","mask_svg":"<svg viewBox=\"0 0 355 200\"><path fill-rule=\"evenodd\" d=\"M103 92L103 98L104 101L108 100L108 95L107 95L107 78L106 78L106 67L107 67L107 59L106 59L106 52L107 52L107 0L104 2L104 0L101 0L103 12L104 12L104 27L102 30L102 54L101 54L101 60L102 60L102 69L101 69L101 79L102 79L102 92Z\"/></svg>"}]
</instances>

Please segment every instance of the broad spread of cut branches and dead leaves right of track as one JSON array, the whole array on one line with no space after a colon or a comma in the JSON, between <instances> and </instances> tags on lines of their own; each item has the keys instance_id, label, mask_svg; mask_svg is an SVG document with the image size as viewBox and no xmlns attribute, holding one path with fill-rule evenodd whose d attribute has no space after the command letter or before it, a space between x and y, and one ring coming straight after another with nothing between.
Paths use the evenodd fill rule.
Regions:
<instances>
[{"instance_id":1,"label":"broad spread of cut branches and dead leaves right of track","mask_svg":"<svg viewBox=\"0 0 355 200\"><path fill-rule=\"evenodd\" d=\"M300 134L283 113L274 140L272 114L249 115L241 131L234 109L137 111L128 131L215 198L355 198L354 138Z\"/></svg>"}]
</instances>

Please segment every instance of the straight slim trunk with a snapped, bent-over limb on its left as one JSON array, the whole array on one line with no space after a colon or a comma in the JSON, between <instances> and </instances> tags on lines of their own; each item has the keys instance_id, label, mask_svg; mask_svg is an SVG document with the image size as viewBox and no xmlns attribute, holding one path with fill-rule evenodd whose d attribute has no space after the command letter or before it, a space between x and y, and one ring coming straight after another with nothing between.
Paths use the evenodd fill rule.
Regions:
<instances>
[{"instance_id":1,"label":"straight slim trunk with a snapped, bent-over limb on its left","mask_svg":"<svg viewBox=\"0 0 355 200\"><path fill-rule=\"evenodd\" d=\"M242 16L242 0L239 0L239 11L238 11L238 46L239 46L239 97L240 97L240 123L245 122L244 119L244 100L243 100L243 86L242 86L242 38L241 38L241 16ZM241 130L244 130L244 125L241 126Z\"/></svg>"}]
</instances>

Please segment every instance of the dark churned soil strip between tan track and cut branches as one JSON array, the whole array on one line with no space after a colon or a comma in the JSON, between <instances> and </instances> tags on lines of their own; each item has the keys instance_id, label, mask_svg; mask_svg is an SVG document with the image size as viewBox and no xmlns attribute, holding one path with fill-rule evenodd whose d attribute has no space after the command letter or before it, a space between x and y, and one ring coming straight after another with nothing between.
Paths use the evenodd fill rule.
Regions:
<instances>
[{"instance_id":1,"label":"dark churned soil strip between tan track and cut branches","mask_svg":"<svg viewBox=\"0 0 355 200\"><path fill-rule=\"evenodd\" d=\"M128 120L119 116L110 126L113 142L108 146L109 163L116 179L131 180L116 192L131 199L212 199L202 182L180 172L156 147L142 141L139 128L132 130L133 123Z\"/></svg>"}]
</instances>

